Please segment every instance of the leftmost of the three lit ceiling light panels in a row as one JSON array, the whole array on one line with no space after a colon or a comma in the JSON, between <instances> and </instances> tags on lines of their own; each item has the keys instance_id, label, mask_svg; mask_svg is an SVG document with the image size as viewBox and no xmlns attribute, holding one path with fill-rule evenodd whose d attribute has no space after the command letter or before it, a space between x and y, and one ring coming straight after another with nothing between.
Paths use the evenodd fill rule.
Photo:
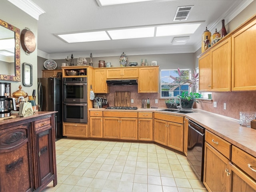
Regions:
<instances>
[{"instance_id":1,"label":"leftmost of the three lit ceiling light panels in a row","mask_svg":"<svg viewBox=\"0 0 256 192\"><path fill-rule=\"evenodd\" d=\"M68 43L110 40L108 34L105 31L62 34L58 36Z\"/></svg>"}]
</instances>

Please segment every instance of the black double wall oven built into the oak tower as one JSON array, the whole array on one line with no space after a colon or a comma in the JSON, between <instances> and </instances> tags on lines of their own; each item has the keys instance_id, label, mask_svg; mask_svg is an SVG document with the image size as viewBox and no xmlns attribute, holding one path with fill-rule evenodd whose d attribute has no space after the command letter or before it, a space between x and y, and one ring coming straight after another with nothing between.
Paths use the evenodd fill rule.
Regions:
<instances>
[{"instance_id":1,"label":"black double wall oven built into the oak tower","mask_svg":"<svg viewBox=\"0 0 256 192\"><path fill-rule=\"evenodd\" d=\"M87 78L63 78L63 122L87 123Z\"/></svg>"}]
</instances>

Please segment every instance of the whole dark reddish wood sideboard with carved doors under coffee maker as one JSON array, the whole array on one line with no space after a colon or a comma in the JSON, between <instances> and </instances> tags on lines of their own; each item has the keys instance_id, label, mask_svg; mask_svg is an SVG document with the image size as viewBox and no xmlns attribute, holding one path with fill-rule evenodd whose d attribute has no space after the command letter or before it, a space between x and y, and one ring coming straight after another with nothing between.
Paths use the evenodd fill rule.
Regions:
<instances>
[{"instance_id":1,"label":"whole dark reddish wood sideboard with carved doors under coffee maker","mask_svg":"<svg viewBox=\"0 0 256 192\"><path fill-rule=\"evenodd\" d=\"M53 112L0 122L0 191L41 191L57 184Z\"/></svg>"}]
</instances>

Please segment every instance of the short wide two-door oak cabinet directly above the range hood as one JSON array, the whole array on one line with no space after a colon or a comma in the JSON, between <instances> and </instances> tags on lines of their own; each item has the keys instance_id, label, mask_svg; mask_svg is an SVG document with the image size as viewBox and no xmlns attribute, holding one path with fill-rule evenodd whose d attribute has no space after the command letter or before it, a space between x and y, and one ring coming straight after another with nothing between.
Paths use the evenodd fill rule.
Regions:
<instances>
[{"instance_id":1,"label":"short wide two-door oak cabinet directly above the range hood","mask_svg":"<svg viewBox=\"0 0 256 192\"><path fill-rule=\"evenodd\" d=\"M106 70L107 79L138 78L138 76L139 70L136 67L108 68Z\"/></svg>"}]
</instances>

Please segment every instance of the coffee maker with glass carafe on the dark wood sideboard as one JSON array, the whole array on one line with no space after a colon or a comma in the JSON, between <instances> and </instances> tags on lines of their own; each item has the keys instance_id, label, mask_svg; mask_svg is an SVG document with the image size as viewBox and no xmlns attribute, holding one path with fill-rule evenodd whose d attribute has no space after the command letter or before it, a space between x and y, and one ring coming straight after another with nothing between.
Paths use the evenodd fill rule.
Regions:
<instances>
[{"instance_id":1,"label":"coffee maker with glass carafe on the dark wood sideboard","mask_svg":"<svg viewBox=\"0 0 256 192\"><path fill-rule=\"evenodd\" d=\"M9 117L16 109L15 98L11 98L11 84L0 82L0 118Z\"/></svg>"}]
</instances>

